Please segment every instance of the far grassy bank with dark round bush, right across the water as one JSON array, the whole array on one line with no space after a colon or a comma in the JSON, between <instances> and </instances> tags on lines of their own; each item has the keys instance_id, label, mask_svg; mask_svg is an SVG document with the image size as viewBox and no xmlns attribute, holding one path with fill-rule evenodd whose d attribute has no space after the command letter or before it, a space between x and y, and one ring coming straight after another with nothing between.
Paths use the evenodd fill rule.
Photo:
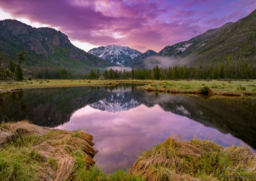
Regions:
<instances>
[{"instance_id":1,"label":"far grassy bank with dark round bush, right across the water","mask_svg":"<svg viewBox=\"0 0 256 181\"><path fill-rule=\"evenodd\" d=\"M171 94L210 94L222 96L255 96L256 80L179 80L154 81L137 87L148 92Z\"/></svg>"}]
</instances>

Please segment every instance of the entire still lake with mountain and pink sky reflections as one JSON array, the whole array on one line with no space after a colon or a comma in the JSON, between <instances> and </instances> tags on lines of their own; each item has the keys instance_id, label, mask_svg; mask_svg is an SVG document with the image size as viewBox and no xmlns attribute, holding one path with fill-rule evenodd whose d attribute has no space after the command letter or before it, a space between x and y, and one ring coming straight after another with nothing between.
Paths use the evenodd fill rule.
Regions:
<instances>
[{"instance_id":1,"label":"entire still lake with mountain and pink sky reflections","mask_svg":"<svg viewBox=\"0 0 256 181\"><path fill-rule=\"evenodd\" d=\"M0 94L0 116L85 130L99 150L97 166L107 172L129 169L141 152L173 135L256 148L254 98L148 94L136 85L31 89Z\"/></svg>"}]
</instances>

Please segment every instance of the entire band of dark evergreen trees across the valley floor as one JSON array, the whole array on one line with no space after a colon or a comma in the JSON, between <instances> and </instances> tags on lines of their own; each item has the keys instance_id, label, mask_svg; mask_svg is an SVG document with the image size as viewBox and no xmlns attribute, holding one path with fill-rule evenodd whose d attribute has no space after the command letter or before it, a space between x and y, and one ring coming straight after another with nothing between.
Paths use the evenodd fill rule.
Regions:
<instances>
[{"instance_id":1,"label":"entire band of dark evergreen trees across the valley floor","mask_svg":"<svg viewBox=\"0 0 256 181\"><path fill-rule=\"evenodd\" d=\"M0 79L1 80L23 80L24 70L22 62L25 61L25 55L28 52L17 53L15 60L9 59L7 66L3 66L4 55L0 52ZM26 74L28 75L28 73ZM154 79L154 80L171 80L171 79L256 79L256 66L252 61L225 61L215 64L206 64L204 66L174 66L168 68L153 69L129 69L117 70L91 69L70 71L65 68L30 68L29 77L31 78L49 78L49 79L71 79L71 78L88 78L88 79Z\"/></svg>"}]
</instances>

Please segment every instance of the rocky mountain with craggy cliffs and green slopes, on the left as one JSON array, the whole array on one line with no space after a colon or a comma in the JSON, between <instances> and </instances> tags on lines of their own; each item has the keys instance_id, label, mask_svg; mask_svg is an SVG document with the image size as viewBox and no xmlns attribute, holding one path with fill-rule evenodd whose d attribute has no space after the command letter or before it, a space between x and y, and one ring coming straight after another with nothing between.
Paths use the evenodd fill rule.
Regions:
<instances>
[{"instance_id":1,"label":"rocky mountain with craggy cliffs and green slopes, on the left","mask_svg":"<svg viewBox=\"0 0 256 181\"><path fill-rule=\"evenodd\" d=\"M27 51L26 66L88 69L111 63L75 47L68 36L49 27L35 28L17 20L0 21L0 50L7 58Z\"/></svg>"}]
</instances>

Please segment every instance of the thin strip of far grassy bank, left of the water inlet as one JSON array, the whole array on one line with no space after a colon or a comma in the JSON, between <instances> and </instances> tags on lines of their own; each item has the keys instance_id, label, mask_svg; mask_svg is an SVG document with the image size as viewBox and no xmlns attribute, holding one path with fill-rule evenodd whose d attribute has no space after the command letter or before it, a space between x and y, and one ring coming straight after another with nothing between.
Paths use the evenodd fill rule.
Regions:
<instances>
[{"instance_id":1,"label":"thin strip of far grassy bank, left of the water inlet","mask_svg":"<svg viewBox=\"0 0 256 181\"><path fill-rule=\"evenodd\" d=\"M111 86L118 83L151 83L150 80L25 80L22 82L0 82L0 92L19 91L20 89Z\"/></svg>"}]
</instances>

